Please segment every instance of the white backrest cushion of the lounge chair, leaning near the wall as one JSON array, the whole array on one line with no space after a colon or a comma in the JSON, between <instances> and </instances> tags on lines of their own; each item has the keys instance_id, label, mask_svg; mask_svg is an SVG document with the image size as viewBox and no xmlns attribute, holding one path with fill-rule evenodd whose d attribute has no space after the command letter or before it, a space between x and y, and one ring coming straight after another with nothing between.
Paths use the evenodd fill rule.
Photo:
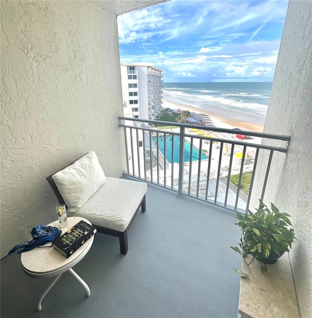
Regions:
<instances>
[{"instance_id":1,"label":"white backrest cushion of the lounge chair, leaning near the wall","mask_svg":"<svg viewBox=\"0 0 312 318\"><path fill-rule=\"evenodd\" d=\"M94 151L88 152L52 178L70 213L76 212L106 181Z\"/></svg>"}]
</instances>

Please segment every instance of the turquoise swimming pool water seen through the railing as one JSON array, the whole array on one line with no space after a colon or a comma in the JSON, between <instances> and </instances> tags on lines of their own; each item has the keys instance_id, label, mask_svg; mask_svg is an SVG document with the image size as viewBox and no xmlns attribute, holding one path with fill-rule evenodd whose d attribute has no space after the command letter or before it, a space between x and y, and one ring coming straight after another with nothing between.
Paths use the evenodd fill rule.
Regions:
<instances>
[{"instance_id":1,"label":"turquoise swimming pool water seen through the railing","mask_svg":"<svg viewBox=\"0 0 312 318\"><path fill-rule=\"evenodd\" d=\"M174 139L174 162L179 162L179 147L180 147L180 138L179 136L171 136L167 135L167 141L166 141L166 159L171 163L171 149L172 149L172 140ZM153 142L156 144L157 137L152 137ZM159 150L164 153L164 137L159 136ZM184 141L184 162L190 161L190 150L191 150L191 143L187 140ZM192 161L197 161L199 157L199 150L193 146L192 151ZM201 159L208 159L208 156L201 154Z\"/></svg>"}]
</instances>

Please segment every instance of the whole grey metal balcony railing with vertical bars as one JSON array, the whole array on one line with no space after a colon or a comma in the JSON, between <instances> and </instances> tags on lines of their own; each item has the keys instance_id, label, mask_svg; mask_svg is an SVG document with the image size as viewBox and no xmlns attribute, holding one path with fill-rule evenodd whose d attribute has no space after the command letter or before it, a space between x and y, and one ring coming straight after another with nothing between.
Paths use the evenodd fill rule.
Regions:
<instances>
[{"instance_id":1,"label":"whole grey metal balcony railing with vertical bars","mask_svg":"<svg viewBox=\"0 0 312 318\"><path fill-rule=\"evenodd\" d=\"M135 127L133 121L140 122L141 127ZM257 182L263 180L263 185L256 195L262 200L274 153L286 153L290 141L290 136L211 124L119 117L119 126L124 128L126 156L130 158L125 174L174 191L177 196L194 197L238 212L249 209L259 151L267 153L267 168L257 171ZM263 138L278 145L261 144ZM248 194L241 190L246 173L250 175ZM262 174L260 178L258 174ZM230 180L234 175L237 186Z\"/></svg>"}]
</instances>

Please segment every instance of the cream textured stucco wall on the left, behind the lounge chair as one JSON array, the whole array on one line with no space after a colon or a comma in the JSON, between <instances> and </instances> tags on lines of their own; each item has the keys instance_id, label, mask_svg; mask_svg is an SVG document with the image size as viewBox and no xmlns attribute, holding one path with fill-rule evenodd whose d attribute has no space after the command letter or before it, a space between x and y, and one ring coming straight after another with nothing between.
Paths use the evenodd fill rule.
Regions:
<instances>
[{"instance_id":1,"label":"cream textured stucco wall on the left, behind the lounge chair","mask_svg":"<svg viewBox=\"0 0 312 318\"><path fill-rule=\"evenodd\" d=\"M56 219L45 177L95 150L126 167L117 19L85 1L1 1L1 258Z\"/></svg>"}]
</instances>

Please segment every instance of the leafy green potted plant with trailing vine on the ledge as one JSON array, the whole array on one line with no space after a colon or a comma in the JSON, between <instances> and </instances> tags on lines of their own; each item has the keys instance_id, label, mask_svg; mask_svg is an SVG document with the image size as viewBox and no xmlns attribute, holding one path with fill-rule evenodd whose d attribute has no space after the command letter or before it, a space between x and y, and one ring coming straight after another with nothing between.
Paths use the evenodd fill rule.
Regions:
<instances>
[{"instance_id":1,"label":"leafy green potted plant with trailing vine on the ledge","mask_svg":"<svg viewBox=\"0 0 312 318\"><path fill-rule=\"evenodd\" d=\"M249 277L251 271L249 265L257 259L263 263L261 271L268 270L266 264L273 264L285 252L292 248L295 239L292 223L287 213L279 212L277 207L271 203L271 210L259 199L259 208L256 212L248 211L246 214L236 213L237 224L242 229L242 236L238 247L231 248L238 252L248 266L250 274L235 269L241 277ZM251 255L253 259L248 263L245 256Z\"/></svg>"}]
</instances>

